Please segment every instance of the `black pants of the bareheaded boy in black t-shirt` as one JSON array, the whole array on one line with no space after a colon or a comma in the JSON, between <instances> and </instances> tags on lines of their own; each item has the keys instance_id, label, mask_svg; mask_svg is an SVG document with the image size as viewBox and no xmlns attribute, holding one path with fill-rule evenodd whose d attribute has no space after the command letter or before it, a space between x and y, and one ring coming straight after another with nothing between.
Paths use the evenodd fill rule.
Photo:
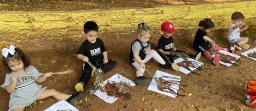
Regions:
<instances>
[{"instance_id":1,"label":"black pants of the bareheaded boy in black t-shirt","mask_svg":"<svg viewBox=\"0 0 256 111\"><path fill-rule=\"evenodd\" d=\"M96 68L101 69L103 72L107 72L117 66L117 62L108 60L106 64L102 61L91 62ZM84 86L88 83L90 77L92 77L92 67L88 63L83 63L83 70L79 82L82 82Z\"/></svg>"}]
</instances>

